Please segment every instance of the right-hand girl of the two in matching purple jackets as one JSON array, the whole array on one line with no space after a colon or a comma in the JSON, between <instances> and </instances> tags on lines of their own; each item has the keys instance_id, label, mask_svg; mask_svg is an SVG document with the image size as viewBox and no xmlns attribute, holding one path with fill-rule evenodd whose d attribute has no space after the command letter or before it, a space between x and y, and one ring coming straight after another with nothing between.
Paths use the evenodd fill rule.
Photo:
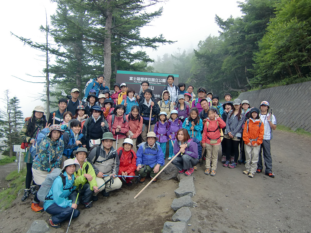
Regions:
<instances>
[{"instance_id":1,"label":"right-hand girl of the two in matching purple jackets","mask_svg":"<svg viewBox=\"0 0 311 233\"><path fill-rule=\"evenodd\" d=\"M169 140L175 142L176 132L181 129L183 126L183 123L178 119L178 112L177 110L171 111L171 116L168 120L168 127L167 127L167 135L169 137ZM169 143L169 158L168 160L171 160L171 158L174 156L173 151L173 144Z\"/></svg>"}]
</instances>

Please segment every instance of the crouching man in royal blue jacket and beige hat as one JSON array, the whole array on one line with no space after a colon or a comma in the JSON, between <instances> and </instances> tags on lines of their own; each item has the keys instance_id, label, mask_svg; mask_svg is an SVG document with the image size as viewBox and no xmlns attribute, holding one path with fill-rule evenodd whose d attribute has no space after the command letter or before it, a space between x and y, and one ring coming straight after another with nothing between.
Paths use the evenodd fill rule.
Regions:
<instances>
[{"instance_id":1,"label":"crouching man in royal blue jacket and beige hat","mask_svg":"<svg viewBox=\"0 0 311 233\"><path fill-rule=\"evenodd\" d=\"M156 143L159 138L154 132L149 132L146 138L147 142L139 144L136 154L136 170L141 175L140 183L145 181L147 173L150 173L151 178L155 177L164 165L164 154L160 144ZM145 167L142 168L142 165ZM156 182L156 179L153 182Z\"/></svg>"}]
</instances>

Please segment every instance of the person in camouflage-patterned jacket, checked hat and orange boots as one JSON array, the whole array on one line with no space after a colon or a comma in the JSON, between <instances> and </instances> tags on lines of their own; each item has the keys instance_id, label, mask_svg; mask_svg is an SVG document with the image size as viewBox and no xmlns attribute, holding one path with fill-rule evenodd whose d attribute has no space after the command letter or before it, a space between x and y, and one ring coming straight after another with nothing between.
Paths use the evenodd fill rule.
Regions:
<instances>
[{"instance_id":1,"label":"person in camouflage-patterned jacket, checked hat and orange boots","mask_svg":"<svg viewBox=\"0 0 311 233\"><path fill-rule=\"evenodd\" d=\"M47 130L49 130L49 133L45 135L39 144L39 154L36 156L31 168L34 181L39 185L39 188L46 176L51 173L54 168L60 167L64 150L64 142L60 138L63 134L63 130L60 126L52 125L49 129L45 129L41 133L45 133ZM43 212L44 209L39 206L39 203L40 201L36 194L31 203L31 210L37 213Z\"/></svg>"}]
</instances>

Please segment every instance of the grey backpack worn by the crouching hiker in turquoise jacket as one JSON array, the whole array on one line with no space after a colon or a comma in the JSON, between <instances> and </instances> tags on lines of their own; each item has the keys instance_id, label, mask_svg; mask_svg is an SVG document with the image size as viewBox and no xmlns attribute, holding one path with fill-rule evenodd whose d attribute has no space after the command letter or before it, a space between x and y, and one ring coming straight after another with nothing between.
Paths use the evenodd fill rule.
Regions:
<instances>
[{"instance_id":1,"label":"grey backpack worn by the crouching hiker in turquoise jacket","mask_svg":"<svg viewBox=\"0 0 311 233\"><path fill-rule=\"evenodd\" d=\"M49 173L45 180L42 182L40 189L38 190L37 197L40 201L45 201L45 200L53 200L52 195L49 195L49 191L53 185L54 180L58 177L62 177L63 181L63 188L64 190L71 190L71 188L65 189L66 186L66 176L63 175L63 172L60 168L54 168L54 170Z\"/></svg>"}]
</instances>

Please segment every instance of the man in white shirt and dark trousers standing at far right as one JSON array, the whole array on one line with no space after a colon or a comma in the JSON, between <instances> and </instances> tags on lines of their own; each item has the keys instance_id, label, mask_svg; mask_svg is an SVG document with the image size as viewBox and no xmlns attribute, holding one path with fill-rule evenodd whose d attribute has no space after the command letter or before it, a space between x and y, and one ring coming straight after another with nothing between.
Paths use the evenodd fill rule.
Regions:
<instances>
[{"instance_id":1,"label":"man in white shirt and dark trousers standing at far right","mask_svg":"<svg viewBox=\"0 0 311 233\"><path fill-rule=\"evenodd\" d=\"M262 156L261 152L263 151L263 158L265 160L265 174L267 176L270 176L274 178L275 174L272 172L272 156L271 156L271 145L270 145L270 140L273 138L272 136L272 130L276 129L276 118L274 115L269 114L270 106L267 101L262 101L260 104L260 120L263 122L263 126L265 129L265 133L263 135L263 140L262 144L260 147L260 152L259 152L259 160L258 160L258 168L257 168L257 173L262 172Z\"/></svg>"}]
</instances>

